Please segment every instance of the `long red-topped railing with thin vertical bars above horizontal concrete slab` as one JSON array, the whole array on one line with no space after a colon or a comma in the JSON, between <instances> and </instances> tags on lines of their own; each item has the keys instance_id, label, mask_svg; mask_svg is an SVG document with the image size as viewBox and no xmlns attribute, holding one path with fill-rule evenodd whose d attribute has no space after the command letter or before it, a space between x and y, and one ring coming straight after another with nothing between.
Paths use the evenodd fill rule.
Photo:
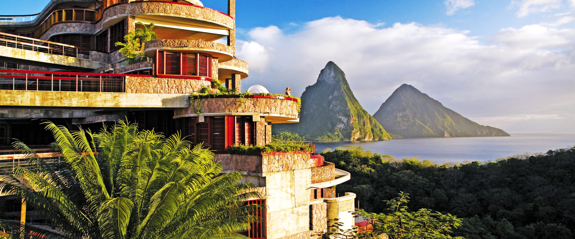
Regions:
<instances>
[{"instance_id":1,"label":"long red-topped railing with thin vertical bars above horizontal concrete slab","mask_svg":"<svg viewBox=\"0 0 575 239\"><path fill-rule=\"evenodd\" d=\"M106 73L0 70L0 90L125 92L125 77Z\"/></svg>"}]
</instances>

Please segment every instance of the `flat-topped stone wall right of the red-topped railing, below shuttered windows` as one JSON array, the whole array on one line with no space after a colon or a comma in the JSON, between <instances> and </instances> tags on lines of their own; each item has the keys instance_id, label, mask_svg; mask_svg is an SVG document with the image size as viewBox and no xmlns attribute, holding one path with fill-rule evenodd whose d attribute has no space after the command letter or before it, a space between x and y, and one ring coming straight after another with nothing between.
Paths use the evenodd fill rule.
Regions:
<instances>
[{"instance_id":1,"label":"flat-topped stone wall right of the red-topped railing, below shuttered windows","mask_svg":"<svg viewBox=\"0 0 575 239\"><path fill-rule=\"evenodd\" d=\"M210 82L196 79L126 77L126 93L198 93L204 85L209 86Z\"/></svg>"}]
</instances>

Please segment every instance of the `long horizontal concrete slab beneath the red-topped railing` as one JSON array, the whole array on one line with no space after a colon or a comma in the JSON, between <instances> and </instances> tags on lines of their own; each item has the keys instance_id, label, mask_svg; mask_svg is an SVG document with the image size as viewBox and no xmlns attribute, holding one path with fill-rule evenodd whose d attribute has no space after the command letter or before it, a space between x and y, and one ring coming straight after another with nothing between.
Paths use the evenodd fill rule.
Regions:
<instances>
[{"instance_id":1,"label":"long horizontal concrete slab beneath the red-topped railing","mask_svg":"<svg viewBox=\"0 0 575 239\"><path fill-rule=\"evenodd\" d=\"M7 91L0 90L0 106L189 108L188 94Z\"/></svg>"}]
</instances>

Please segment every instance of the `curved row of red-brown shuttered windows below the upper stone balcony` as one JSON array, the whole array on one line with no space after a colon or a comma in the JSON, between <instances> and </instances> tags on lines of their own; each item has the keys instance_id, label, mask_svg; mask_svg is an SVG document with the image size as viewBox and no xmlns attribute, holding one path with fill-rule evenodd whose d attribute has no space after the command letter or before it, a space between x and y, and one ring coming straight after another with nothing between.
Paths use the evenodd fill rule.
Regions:
<instances>
[{"instance_id":1,"label":"curved row of red-brown shuttered windows below the upper stone balcony","mask_svg":"<svg viewBox=\"0 0 575 239\"><path fill-rule=\"evenodd\" d=\"M212 57L195 52L167 52L156 54L156 75L212 77Z\"/></svg>"}]
</instances>

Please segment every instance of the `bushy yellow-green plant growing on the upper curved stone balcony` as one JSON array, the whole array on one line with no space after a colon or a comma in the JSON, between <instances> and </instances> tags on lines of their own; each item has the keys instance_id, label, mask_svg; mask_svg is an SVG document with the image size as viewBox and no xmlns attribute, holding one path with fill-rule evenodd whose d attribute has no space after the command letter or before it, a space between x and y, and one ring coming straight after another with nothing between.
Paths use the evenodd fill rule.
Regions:
<instances>
[{"instance_id":1,"label":"bushy yellow-green plant growing on the upper curved stone balcony","mask_svg":"<svg viewBox=\"0 0 575 239\"><path fill-rule=\"evenodd\" d=\"M116 46L122 46L119 50L122 55L128 60L128 65L140 61L147 61L144 54L144 44L151 40L156 40L158 36L154 33L154 23L147 26L144 23L136 22L136 26L140 25L142 28L136 28L133 32L129 32L124 36L124 42L116 42Z\"/></svg>"}]
</instances>

